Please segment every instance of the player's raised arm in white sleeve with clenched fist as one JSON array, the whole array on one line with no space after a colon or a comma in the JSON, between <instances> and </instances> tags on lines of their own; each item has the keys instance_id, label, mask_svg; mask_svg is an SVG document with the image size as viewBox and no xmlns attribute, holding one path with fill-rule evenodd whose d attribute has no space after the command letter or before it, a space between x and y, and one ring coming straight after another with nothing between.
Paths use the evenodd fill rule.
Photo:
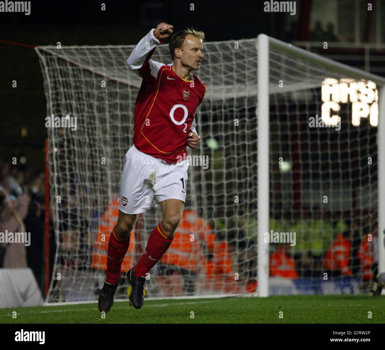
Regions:
<instances>
[{"instance_id":1,"label":"player's raised arm in white sleeve with clenched fist","mask_svg":"<svg viewBox=\"0 0 385 350\"><path fill-rule=\"evenodd\" d=\"M160 23L155 29L152 28L132 50L130 57L127 59L129 67L142 77L149 73L156 77L163 64L150 58L157 45L171 35L172 28L172 25L166 23Z\"/></svg>"}]
</instances>

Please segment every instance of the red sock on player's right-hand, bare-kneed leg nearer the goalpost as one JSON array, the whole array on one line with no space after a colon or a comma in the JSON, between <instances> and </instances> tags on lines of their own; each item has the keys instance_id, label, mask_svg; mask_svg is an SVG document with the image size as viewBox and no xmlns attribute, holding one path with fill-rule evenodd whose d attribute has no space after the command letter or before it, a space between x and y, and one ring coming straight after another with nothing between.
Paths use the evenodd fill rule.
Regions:
<instances>
[{"instance_id":1,"label":"red sock on player's right-hand, bare-kneed leg nearer the goalpost","mask_svg":"<svg viewBox=\"0 0 385 350\"><path fill-rule=\"evenodd\" d=\"M154 228L148 238L147 247L144 254L134 269L135 277L146 277L146 273L150 272L151 268L160 260L172 242L172 238L167 237L161 224Z\"/></svg>"}]
</instances>

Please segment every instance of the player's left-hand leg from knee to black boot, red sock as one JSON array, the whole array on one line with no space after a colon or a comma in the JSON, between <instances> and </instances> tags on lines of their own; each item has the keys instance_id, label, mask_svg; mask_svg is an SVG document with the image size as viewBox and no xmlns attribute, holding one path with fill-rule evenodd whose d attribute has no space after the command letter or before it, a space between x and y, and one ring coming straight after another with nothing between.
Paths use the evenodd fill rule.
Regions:
<instances>
[{"instance_id":1,"label":"player's left-hand leg from knee to black boot, red sock","mask_svg":"<svg viewBox=\"0 0 385 350\"><path fill-rule=\"evenodd\" d=\"M107 249L106 280L99 295L99 311L109 311L114 304L114 295L121 279L121 268L127 253L131 231L138 214L125 214L119 210L115 227L112 229Z\"/></svg>"}]
</instances>

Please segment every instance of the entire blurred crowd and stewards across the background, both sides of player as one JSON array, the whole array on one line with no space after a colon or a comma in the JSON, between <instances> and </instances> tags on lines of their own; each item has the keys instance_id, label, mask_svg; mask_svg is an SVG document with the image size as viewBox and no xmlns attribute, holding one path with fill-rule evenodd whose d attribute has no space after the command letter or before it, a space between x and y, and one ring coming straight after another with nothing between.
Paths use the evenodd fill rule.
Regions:
<instances>
[{"instance_id":1,"label":"entire blurred crowd and stewards across the background, both sides of player","mask_svg":"<svg viewBox=\"0 0 385 350\"><path fill-rule=\"evenodd\" d=\"M117 206L117 203L114 204ZM117 211L109 215L111 217L107 226L115 221ZM104 231L110 232L110 227L106 226L104 230L104 216L100 219L99 227L83 227L85 231L99 234ZM218 213L218 216L224 217L224 213ZM95 220L99 221L99 218L94 218ZM62 228L60 249L75 250L68 256L76 256L78 260L82 260L77 263L72 261L70 265L90 265L97 270L104 269L105 261L99 260L100 256L105 255L105 247L96 242L94 246L78 247L82 252L79 253L75 248L76 244L71 244L71 241L76 241L76 227L83 224L79 224L79 218L73 217L62 217L61 221L68 221L75 227L72 231L68 227ZM271 226L280 227L281 223L272 221ZM236 221L218 219L206 223L197 213L186 208L176 231L174 243L162 258L157 273L160 277L181 275L184 281L183 292L186 294L194 293L199 266L203 268L206 283L208 287L211 286L210 288L217 285L220 289L223 287L224 280L231 280L232 283L226 286L229 291L237 291L238 285L241 284L239 282L246 282L246 290L254 291L257 266L256 243L255 239L249 238L253 234L248 231L253 231L255 227L250 225L250 218L245 216L239 217ZM38 285L42 288L44 171L41 169L31 166L19 167L11 165L9 161L0 164L0 232L5 233L6 230L30 232L31 239L29 246L23 243L0 243L0 267L30 267ZM269 256L270 276L291 279L322 278L326 272L331 278L362 276L363 282L369 282L376 276L377 231L363 232L354 221L346 221L341 226L334 223L329 227L325 222L314 219L296 223L291 231L298 233L296 246L271 244L273 250ZM227 234L224 234L225 232ZM310 232L312 237L306 235ZM191 234L195 234L199 244L191 241ZM54 235L51 237L52 271L56 244ZM134 241L125 259L130 260L126 261L127 266L124 265L126 268L133 263L131 261L134 257L133 250ZM62 264L65 266L68 261L67 263L62 261ZM239 280L234 282L236 272L239 273Z\"/></svg>"}]
</instances>

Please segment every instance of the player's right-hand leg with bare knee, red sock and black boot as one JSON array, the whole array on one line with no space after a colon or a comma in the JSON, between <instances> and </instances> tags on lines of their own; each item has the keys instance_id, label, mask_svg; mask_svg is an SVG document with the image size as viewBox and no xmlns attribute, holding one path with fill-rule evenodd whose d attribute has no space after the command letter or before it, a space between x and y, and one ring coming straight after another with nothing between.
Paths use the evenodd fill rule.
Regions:
<instances>
[{"instance_id":1,"label":"player's right-hand leg with bare knee, red sock and black boot","mask_svg":"<svg viewBox=\"0 0 385 350\"><path fill-rule=\"evenodd\" d=\"M143 288L150 270L169 248L174 232L182 218L184 202L180 199L166 199L159 203L162 208L162 221L152 230L146 250L138 263L127 273L131 284L129 299L131 305L139 309L144 302Z\"/></svg>"}]
</instances>

